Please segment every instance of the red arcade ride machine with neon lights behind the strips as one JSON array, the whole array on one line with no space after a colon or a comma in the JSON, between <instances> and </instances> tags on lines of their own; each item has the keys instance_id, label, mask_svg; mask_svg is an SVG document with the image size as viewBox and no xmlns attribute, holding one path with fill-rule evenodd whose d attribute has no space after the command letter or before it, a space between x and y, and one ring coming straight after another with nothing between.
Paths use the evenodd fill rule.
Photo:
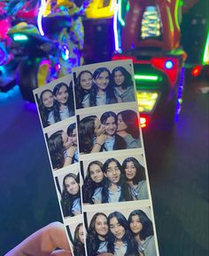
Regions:
<instances>
[{"instance_id":1,"label":"red arcade ride machine with neon lights behind the strips","mask_svg":"<svg viewBox=\"0 0 209 256\"><path fill-rule=\"evenodd\" d=\"M186 59L180 21L179 0L117 2L112 60L133 60L143 127L170 129L180 111Z\"/></svg>"}]
</instances>

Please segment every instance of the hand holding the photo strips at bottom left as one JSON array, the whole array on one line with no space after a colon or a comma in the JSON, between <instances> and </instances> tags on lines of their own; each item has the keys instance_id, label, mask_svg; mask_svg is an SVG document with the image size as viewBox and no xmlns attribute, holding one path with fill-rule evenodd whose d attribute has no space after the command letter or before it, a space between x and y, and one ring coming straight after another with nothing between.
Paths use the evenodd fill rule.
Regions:
<instances>
[{"instance_id":1,"label":"hand holding the photo strips at bottom left","mask_svg":"<svg viewBox=\"0 0 209 256\"><path fill-rule=\"evenodd\" d=\"M59 248L60 250L56 250ZM73 256L66 237L65 226L50 223L39 229L4 256Z\"/></svg>"}]
</instances>

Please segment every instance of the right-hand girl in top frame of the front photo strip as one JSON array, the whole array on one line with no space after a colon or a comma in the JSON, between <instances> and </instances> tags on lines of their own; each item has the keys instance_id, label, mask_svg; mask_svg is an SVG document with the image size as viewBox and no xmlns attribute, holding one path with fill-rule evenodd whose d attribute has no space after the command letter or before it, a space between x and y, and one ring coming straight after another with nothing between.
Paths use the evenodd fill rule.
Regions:
<instances>
[{"instance_id":1,"label":"right-hand girl in top frame of the front photo strip","mask_svg":"<svg viewBox=\"0 0 209 256\"><path fill-rule=\"evenodd\" d=\"M115 95L122 102L135 101L133 80L126 68L116 67L112 69L112 84Z\"/></svg>"}]
</instances>

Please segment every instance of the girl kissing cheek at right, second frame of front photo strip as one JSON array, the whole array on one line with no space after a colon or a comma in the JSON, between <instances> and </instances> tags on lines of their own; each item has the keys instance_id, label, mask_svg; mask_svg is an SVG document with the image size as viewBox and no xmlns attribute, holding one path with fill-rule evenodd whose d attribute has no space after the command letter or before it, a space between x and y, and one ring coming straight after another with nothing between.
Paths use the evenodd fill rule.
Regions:
<instances>
[{"instance_id":1,"label":"girl kissing cheek at right, second frame of front photo strip","mask_svg":"<svg viewBox=\"0 0 209 256\"><path fill-rule=\"evenodd\" d=\"M127 148L140 148L139 121L133 110L124 110L118 113L117 134L127 143Z\"/></svg>"}]
</instances>

